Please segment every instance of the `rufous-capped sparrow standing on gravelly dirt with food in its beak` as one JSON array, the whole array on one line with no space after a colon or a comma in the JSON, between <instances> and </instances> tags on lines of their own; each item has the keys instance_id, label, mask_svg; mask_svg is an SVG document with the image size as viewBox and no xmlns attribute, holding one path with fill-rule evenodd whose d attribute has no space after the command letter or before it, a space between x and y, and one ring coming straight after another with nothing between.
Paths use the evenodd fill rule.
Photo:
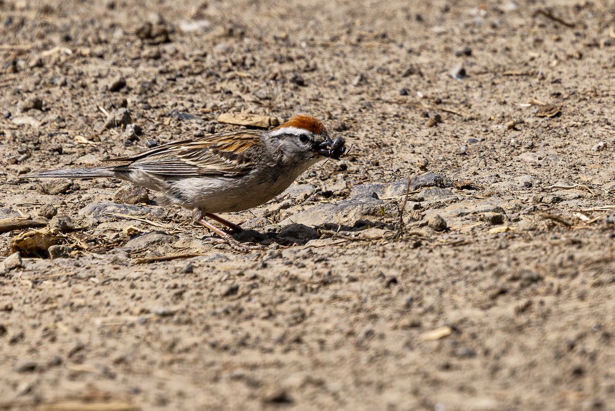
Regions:
<instances>
[{"instance_id":1,"label":"rufous-capped sparrow standing on gravelly dirt with food in its beak","mask_svg":"<svg viewBox=\"0 0 615 411\"><path fill-rule=\"evenodd\" d=\"M47 170L27 177L112 177L159 191L164 195L163 206L175 204L192 210L195 223L241 249L229 233L205 218L241 231L239 225L216 213L260 206L286 190L316 162L339 159L346 153L343 137L331 140L322 122L312 116L299 115L264 132L222 132L108 160L127 164Z\"/></svg>"}]
</instances>

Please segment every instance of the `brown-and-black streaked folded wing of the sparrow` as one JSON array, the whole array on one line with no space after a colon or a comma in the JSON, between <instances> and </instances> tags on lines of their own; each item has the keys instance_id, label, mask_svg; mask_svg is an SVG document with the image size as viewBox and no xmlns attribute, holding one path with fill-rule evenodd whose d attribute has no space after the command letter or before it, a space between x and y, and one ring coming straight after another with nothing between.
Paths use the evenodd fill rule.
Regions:
<instances>
[{"instance_id":1,"label":"brown-and-black streaked folded wing of the sparrow","mask_svg":"<svg viewBox=\"0 0 615 411\"><path fill-rule=\"evenodd\" d=\"M115 171L141 170L161 177L234 177L249 172L260 161L264 147L261 133L253 130L226 132L168 143L135 156Z\"/></svg>"}]
</instances>

